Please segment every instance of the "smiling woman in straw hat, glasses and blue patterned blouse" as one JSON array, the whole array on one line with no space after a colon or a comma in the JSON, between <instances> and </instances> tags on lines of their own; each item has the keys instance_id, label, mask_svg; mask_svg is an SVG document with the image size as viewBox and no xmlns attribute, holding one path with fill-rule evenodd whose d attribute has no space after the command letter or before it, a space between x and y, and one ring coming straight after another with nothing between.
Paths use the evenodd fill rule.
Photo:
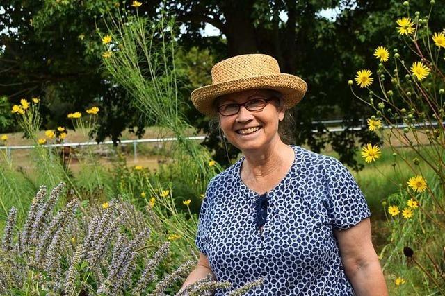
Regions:
<instances>
[{"instance_id":1,"label":"smiling woman in straw hat, glasses and blue patterned blouse","mask_svg":"<svg viewBox=\"0 0 445 296\"><path fill-rule=\"evenodd\" d=\"M210 273L232 283L216 295L259 278L246 295L387 295L353 177L336 159L280 139L280 121L306 89L274 58L253 54L219 62L212 85L191 94L244 156L207 187L200 258L183 287Z\"/></svg>"}]
</instances>

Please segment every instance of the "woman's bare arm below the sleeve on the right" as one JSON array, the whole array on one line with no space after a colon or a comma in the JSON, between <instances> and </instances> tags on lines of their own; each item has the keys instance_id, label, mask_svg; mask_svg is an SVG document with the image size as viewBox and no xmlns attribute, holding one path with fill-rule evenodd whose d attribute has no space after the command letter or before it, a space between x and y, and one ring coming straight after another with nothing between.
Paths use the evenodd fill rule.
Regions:
<instances>
[{"instance_id":1,"label":"woman's bare arm below the sleeve on the right","mask_svg":"<svg viewBox=\"0 0 445 296\"><path fill-rule=\"evenodd\" d=\"M334 230L341 262L355 294L388 295L382 268L371 241L369 218L346 230Z\"/></svg>"}]
</instances>

